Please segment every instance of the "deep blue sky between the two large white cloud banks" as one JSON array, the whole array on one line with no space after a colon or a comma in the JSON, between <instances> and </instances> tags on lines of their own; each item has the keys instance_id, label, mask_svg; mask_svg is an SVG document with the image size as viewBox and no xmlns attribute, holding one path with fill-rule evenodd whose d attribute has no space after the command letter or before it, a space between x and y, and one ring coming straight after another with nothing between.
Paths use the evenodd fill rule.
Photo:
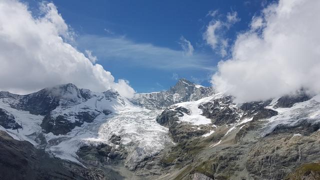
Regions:
<instances>
[{"instance_id":1,"label":"deep blue sky between the two large white cloud banks","mask_svg":"<svg viewBox=\"0 0 320 180\"><path fill-rule=\"evenodd\" d=\"M38 1L25 0L36 13ZM210 77L222 57L203 39L212 20L238 20L220 34L228 48L238 32L248 29L252 16L265 0L52 0L65 22L76 33L72 42L118 79L126 79L137 92L168 89L177 78L210 85ZM214 16L208 15L216 11ZM181 47L190 42L192 54ZM229 51L227 51L229 53Z\"/></svg>"}]
</instances>

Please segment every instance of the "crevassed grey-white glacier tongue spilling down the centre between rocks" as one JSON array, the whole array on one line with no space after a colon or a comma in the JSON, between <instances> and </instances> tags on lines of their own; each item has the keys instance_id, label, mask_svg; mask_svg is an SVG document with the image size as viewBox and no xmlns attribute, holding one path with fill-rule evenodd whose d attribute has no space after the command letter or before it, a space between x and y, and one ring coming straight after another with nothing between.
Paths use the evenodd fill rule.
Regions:
<instances>
[{"instance_id":1,"label":"crevassed grey-white glacier tongue spilling down the centre between rocks","mask_svg":"<svg viewBox=\"0 0 320 180\"><path fill-rule=\"evenodd\" d=\"M107 139L113 134L119 135L128 152L125 165L133 170L145 158L159 153L164 144L171 143L168 129L155 121L159 113L159 110L132 106L120 110L100 126L96 139L87 140L104 141L112 145Z\"/></svg>"}]
</instances>

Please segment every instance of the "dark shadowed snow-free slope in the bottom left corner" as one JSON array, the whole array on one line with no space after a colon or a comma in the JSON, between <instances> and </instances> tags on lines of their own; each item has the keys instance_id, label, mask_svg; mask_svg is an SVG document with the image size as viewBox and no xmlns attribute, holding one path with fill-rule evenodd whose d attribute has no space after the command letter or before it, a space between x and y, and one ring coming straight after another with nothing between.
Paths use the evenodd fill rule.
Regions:
<instances>
[{"instance_id":1,"label":"dark shadowed snow-free slope in the bottom left corner","mask_svg":"<svg viewBox=\"0 0 320 180\"><path fill-rule=\"evenodd\" d=\"M28 141L15 140L0 131L1 180L103 179L103 172L51 157Z\"/></svg>"}]
</instances>

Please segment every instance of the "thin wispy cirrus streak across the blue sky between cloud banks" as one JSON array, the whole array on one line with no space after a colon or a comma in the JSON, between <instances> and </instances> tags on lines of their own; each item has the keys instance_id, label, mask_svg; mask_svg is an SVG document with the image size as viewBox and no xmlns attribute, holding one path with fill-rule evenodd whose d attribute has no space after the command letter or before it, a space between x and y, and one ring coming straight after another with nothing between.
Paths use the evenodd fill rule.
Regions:
<instances>
[{"instance_id":1,"label":"thin wispy cirrus streak across the blue sky between cloud banks","mask_svg":"<svg viewBox=\"0 0 320 180\"><path fill-rule=\"evenodd\" d=\"M186 40L186 39L185 39ZM78 46L94 49L99 60L122 60L131 65L157 69L214 69L211 54L198 53L189 43L186 49L174 50L151 43L137 43L124 36L81 35L76 39ZM188 53L189 55L186 55ZM192 53L192 55L191 55Z\"/></svg>"}]
</instances>

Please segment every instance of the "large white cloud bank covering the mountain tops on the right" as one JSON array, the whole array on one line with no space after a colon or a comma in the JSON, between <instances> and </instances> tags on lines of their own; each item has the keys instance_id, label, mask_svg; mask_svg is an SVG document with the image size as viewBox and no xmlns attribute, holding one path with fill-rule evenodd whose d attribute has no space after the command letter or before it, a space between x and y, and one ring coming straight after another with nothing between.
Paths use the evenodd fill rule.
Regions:
<instances>
[{"instance_id":1,"label":"large white cloud bank covering the mountain tops on the right","mask_svg":"<svg viewBox=\"0 0 320 180\"><path fill-rule=\"evenodd\" d=\"M230 59L212 76L219 91L238 101L266 99L301 87L319 92L320 1L280 0L239 33Z\"/></svg>"}]
</instances>

